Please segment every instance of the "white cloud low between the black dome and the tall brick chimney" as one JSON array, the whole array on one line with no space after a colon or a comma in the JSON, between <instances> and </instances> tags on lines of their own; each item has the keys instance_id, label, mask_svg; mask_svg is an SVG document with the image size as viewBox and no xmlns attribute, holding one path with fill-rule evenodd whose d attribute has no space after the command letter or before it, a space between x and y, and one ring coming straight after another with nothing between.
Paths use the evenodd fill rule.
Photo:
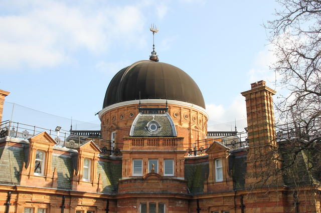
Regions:
<instances>
[{"instance_id":1,"label":"white cloud low between the black dome and the tall brick chimney","mask_svg":"<svg viewBox=\"0 0 321 213\"><path fill-rule=\"evenodd\" d=\"M234 122L240 131L246 127L245 99L237 96L229 106L207 104L206 111L209 114L209 131L230 131L234 129Z\"/></svg>"}]
</instances>

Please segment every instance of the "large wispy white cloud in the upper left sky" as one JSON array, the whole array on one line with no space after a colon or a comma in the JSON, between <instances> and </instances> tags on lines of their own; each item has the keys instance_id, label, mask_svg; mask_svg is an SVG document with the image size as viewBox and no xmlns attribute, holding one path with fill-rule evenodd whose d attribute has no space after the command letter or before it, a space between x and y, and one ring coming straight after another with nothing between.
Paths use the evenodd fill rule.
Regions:
<instances>
[{"instance_id":1,"label":"large wispy white cloud in the upper left sky","mask_svg":"<svg viewBox=\"0 0 321 213\"><path fill-rule=\"evenodd\" d=\"M25 10L15 1L0 3L4 10L16 7L0 17L0 70L56 66L79 50L99 54L117 42L137 47L144 43L141 6L99 8L91 1L82 3L22 1ZM92 7L95 10L87 9Z\"/></svg>"}]
</instances>

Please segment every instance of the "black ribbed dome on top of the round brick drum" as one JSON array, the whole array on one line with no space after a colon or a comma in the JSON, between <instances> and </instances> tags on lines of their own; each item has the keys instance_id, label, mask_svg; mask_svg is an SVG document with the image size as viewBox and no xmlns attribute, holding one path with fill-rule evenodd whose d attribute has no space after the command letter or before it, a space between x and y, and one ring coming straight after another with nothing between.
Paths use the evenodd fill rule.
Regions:
<instances>
[{"instance_id":1,"label":"black ribbed dome on top of the round brick drum","mask_svg":"<svg viewBox=\"0 0 321 213\"><path fill-rule=\"evenodd\" d=\"M200 88L180 68L173 65L138 61L120 70L110 81L103 108L140 99L169 99L196 104L205 109Z\"/></svg>"}]
</instances>

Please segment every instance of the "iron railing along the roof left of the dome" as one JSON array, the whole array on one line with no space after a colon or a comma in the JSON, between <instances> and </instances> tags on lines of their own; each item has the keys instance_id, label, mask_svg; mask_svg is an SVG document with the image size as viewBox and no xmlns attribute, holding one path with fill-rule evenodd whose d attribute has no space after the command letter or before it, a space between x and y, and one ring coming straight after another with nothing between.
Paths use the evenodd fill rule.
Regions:
<instances>
[{"instance_id":1,"label":"iron railing along the roof left of the dome","mask_svg":"<svg viewBox=\"0 0 321 213\"><path fill-rule=\"evenodd\" d=\"M93 141L98 148L100 148L102 154L113 154L113 151L110 148L110 141L102 139L99 130L68 131L60 129L60 131L56 131L10 120L0 123L0 138L9 136L12 138L28 140L44 131L47 132L57 142L57 145L61 147L77 149L88 141Z\"/></svg>"}]
</instances>

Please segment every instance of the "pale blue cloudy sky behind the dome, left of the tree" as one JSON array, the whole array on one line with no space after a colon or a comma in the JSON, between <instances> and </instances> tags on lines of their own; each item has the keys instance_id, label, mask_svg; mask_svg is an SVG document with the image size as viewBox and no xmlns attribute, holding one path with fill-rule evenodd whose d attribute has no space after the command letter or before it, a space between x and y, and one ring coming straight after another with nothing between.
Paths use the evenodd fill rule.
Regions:
<instances>
[{"instance_id":1,"label":"pale blue cloudy sky behind the dome, left of the tree","mask_svg":"<svg viewBox=\"0 0 321 213\"><path fill-rule=\"evenodd\" d=\"M148 28L154 23L160 61L183 69L199 85L209 130L224 130L216 124L234 118L244 122L240 92L255 81L273 80L262 24L273 19L277 7L258 0L0 1L0 89L11 92L5 117L11 116L10 103L17 103L99 123L94 113L102 108L113 75L148 59ZM29 111L18 109L14 120L40 125L41 114L24 118Z\"/></svg>"}]
</instances>

